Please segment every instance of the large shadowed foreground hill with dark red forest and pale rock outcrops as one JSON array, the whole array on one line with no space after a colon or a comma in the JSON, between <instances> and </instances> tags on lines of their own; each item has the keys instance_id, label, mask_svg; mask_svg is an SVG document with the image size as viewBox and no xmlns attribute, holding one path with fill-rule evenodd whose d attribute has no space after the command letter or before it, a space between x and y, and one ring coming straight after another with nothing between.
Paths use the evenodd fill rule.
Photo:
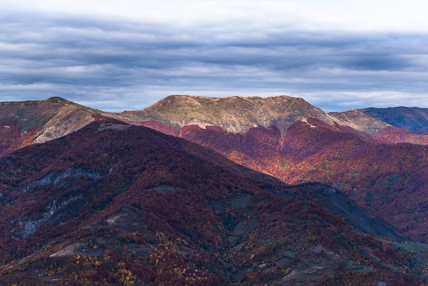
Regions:
<instances>
[{"instance_id":1,"label":"large shadowed foreground hill with dark red forest and pale rock outcrops","mask_svg":"<svg viewBox=\"0 0 428 286\"><path fill-rule=\"evenodd\" d=\"M423 247L312 202L333 202L332 188L142 126L97 121L0 168L1 285L419 285L425 271Z\"/></svg>"}]
</instances>

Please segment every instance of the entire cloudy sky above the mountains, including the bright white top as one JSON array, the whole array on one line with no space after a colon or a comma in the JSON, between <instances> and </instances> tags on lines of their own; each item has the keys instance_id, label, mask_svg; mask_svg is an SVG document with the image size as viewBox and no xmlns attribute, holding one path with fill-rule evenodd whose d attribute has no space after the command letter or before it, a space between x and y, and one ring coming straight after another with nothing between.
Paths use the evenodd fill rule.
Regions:
<instances>
[{"instance_id":1,"label":"entire cloudy sky above the mountains, including the bright white top","mask_svg":"<svg viewBox=\"0 0 428 286\"><path fill-rule=\"evenodd\" d=\"M352 3L351 3L352 2ZM428 2L0 1L0 101L170 94L428 108Z\"/></svg>"}]
</instances>

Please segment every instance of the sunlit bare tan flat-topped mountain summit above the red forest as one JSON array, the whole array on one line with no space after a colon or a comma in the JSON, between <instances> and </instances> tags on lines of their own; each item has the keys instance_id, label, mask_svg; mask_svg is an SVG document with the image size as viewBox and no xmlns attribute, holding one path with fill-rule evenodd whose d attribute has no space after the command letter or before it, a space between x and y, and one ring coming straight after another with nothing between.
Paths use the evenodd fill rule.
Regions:
<instances>
[{"instance_id":1,"label":"sunlit bare tan flat-topped mountain summit above the red forest","mask_svg":"<svg viewBox=\"0 0 428 286\"><path fill-rule=\"evenodd\" d=\"M107 115L107 114L106 114ZM110 114L111 115L111 114ZM330 125L338 123L360 132L377 133L389 126L354 111L354 114L325 113L299 97L205 97L171 95L140 111L115 114L117 119L156 120L181 129L186 125L220 126L228 132L244 134L251 127L276 126L281 134L297 121L316 118ZM122 118L121 118L122 117Z\"/></svg>"}]
</instances>

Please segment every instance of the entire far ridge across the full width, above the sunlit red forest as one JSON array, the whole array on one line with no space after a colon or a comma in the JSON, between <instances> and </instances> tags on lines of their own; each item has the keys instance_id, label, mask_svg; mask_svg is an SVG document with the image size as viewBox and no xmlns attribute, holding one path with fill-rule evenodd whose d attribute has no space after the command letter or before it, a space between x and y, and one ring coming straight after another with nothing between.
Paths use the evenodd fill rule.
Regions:
<instances>
[{"instance_id":1,"label":"entire far ridge across the full width, above the sunlit red forest","mask_svg":"<svg viewBox=\"0 0 428 286\"><path fill-rule=\"evenodd\" d=\"M418 108L418 112L421 110L423 108ZM384 119L386 121L383 122L383 117L375 116L375 112L373 108L367 108L325 113L302 98L285 95L265 98L171 95L142 110L118 113L90 108L60 97L0 102L0 155L62 137L105 117L155 129L155 125L160 123L164 126L162 131L166 132L165 128L168 128L166 133L170 135L177 135L178 130L189 125L202 128L219 126L228 132L241 134L256 126L275 126L284 135L291 124L315 118L330 126L351 127L354 132L364 136L376 134L372 137L381 141L428 144L428 134L391 129L391 125L400 127L397 120ZM420 118L423 121L425 117ZM425 121L428 126L427 114ZM415 125L413 129L423 131L428 128L423 127L424 124L421 122L417 125L419 127Z\"/></svg>"}]
</instances>

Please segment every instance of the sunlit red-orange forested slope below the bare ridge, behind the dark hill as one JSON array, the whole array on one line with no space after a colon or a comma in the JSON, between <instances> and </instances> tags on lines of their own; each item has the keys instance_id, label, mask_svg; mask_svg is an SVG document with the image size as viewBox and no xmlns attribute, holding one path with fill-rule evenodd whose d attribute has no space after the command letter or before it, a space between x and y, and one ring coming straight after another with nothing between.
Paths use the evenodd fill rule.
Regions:
<instances>
[{"instance_id":1,"label":"sunlit red-orange forested slope below the bare ridge, behind the dark hill","mask_svg":"<svg viewBox=\"0 0 428 286\"><path fill-rule=\"evenodd\" d=\"M185 126L175 135L289 184L316 181L336 187L413 239L428 240L423 179L427 147L383 141L387 129L395 127L362 136L349 127L307 121L294 123L284 136L275 126L254 127L244 135L216 126ZM152 127L167 128L153 123Z\"/></svg>"}]
</instances>

